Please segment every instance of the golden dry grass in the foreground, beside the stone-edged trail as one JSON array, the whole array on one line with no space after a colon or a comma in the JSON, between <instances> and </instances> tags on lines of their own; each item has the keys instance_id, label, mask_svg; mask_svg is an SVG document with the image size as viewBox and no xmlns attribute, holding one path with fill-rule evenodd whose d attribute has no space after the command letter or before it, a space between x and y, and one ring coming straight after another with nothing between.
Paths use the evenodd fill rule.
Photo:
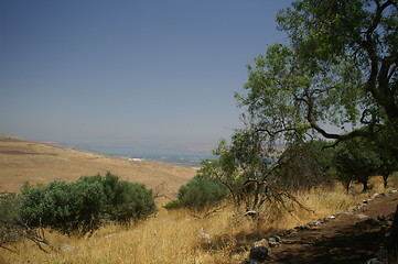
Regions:
<instances>
[{"instance_id":1,"label":"golden dry grass in the foreground, beside the stone-edged trail","mask_svg":"<svg viewBox=\"0 0 398 264\"><path fill-rule=\"evenodd\" d=\"M372 179L375 191L383 190L380 177ZM187 210L166 211L160 209L155 217L127 229L109 226L93 237L78 239L58 233L47 233L54 250L41 252L32 243L15 246L21 255L2 251L3 263L241 263L247 249L256 240L287 230L321 217L347 210L373 193L346 194L337 185L334 189L312 189L297 197L306 208L295 207L294 213L269 205L260 221L239 218L232 207L197 218ZM209 234L208 240L198 238L201 230ZM1 257L0 257L1 263Z\"/></svg>"}]
</instances>

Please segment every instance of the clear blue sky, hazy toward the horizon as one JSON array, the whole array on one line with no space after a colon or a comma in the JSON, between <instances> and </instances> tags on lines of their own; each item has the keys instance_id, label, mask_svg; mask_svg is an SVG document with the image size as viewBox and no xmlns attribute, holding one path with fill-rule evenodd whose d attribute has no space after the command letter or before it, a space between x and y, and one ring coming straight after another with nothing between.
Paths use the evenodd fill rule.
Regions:
<instances>
[{"instance_id":1,"label":"clear blue sky, hazy toward the horizon","mask_svg":"<svg viewBox=\"0 0 398 264\"><path fill-rule=\"evenodd\" d=\"M291 0L1 0L0 133L213 148Z\"/></svg>"}]
</instances>

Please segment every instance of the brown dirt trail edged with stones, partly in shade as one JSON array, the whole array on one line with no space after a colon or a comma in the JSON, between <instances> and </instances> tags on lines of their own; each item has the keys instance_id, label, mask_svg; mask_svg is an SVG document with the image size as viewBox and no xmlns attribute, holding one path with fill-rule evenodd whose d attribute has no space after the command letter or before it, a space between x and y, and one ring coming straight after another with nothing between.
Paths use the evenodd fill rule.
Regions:
<instances>
[{"instance_id":1,"label":"brown dirt trail edged with stones, partly in shade","mask_svg":"<svg viewBox=\"0 0 398 264\"><path fill-rule=\"evenodd\" d=\"M386 218L391 217L397 205L398 194L391 194L369 201L359 210L293 232L270 250L267 263L364 264L384 245L388 231Z\"/></svg>"}]
</instances>

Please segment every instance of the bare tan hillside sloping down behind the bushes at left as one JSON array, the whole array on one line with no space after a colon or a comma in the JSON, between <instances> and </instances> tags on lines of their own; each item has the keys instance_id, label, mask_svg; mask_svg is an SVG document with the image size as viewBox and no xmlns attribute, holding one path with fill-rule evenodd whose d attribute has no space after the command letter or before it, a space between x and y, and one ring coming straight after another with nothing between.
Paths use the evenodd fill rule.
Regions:
<instances>
[{"instance_id":1,"label":"bare tan hillside sloping down behind the bushes at left","mask_svg":"<svg viewBox=\"0 0 398 264\"><path fill-rule=\"evenodd\" d=\"M146 184L152 189L165 183L160 193L175 197L179 187L195 175L191 167L152 161L132 162L6 134L0 134L0 191L18 191L25 182L73 182L84 175L104 175L110 170L121 179Z\"/></svg>"}]
</instances>

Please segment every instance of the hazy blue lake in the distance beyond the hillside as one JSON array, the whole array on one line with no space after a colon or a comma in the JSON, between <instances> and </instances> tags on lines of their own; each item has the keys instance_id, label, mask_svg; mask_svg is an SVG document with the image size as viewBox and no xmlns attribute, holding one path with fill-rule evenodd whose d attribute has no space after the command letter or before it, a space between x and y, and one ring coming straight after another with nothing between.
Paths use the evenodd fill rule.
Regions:
<instances>
[{"instance_id":1,"label":"hazy blue lake in the distance beyond the hillside","mask_svg":"<svg viewBox=\"0 0 398 264\"><path fill-rule=\"evenodd\" d=\"M180 166L201 166L202 161L215 158L207 152L189 152L181 150L154 150L137 147L109 147L109 146L82 146L88 151L100 153L108 156L122 156L130 161L159 161Z\"/></svg>"}]
</instances>

